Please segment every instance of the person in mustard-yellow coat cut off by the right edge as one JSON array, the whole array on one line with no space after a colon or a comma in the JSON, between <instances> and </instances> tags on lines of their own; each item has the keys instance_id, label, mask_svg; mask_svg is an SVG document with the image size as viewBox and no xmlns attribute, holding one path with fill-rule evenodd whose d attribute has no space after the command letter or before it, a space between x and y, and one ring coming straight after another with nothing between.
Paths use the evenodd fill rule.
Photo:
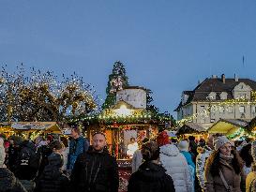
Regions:
<instances>
[{"instance_id":1,"label":"person in mustard-yellow coat cut off by the right edge","mask_svg":"<svg viewBox=\"0 0 256 192\"><path fill-rule=\"evenodd\" d=\"M256 191L256 140L251 143L251 156L253 159L251 165L251 171L248 173L246 180L246 191L255 192Z\"/></svg>"}]
</instances>

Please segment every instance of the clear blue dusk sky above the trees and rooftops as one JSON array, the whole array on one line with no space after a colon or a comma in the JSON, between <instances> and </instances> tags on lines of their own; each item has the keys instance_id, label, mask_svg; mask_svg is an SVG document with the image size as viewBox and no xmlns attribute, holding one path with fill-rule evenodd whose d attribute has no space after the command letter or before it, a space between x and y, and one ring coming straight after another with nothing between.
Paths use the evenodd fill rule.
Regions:
<instances>
[{"instance_id":1,"label":"clear blue dusk sky above the trees and rooftops","mask_svg":"<svg viewBox=\"0 0 256 192\"><path fill-rule=\"evenodd\" d=\"M172 114L213 74L256 80L256 1L0 1L1 66L75 71L104 100L118 60Z\"/></svg>"}]
</instances>

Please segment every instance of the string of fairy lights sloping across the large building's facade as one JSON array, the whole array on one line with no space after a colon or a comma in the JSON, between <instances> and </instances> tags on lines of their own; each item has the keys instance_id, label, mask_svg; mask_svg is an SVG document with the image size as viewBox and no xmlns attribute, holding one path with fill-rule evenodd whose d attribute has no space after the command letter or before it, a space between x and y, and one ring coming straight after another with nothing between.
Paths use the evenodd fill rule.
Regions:
<instances>
[{"instance_id":1,"label":"string of fairy lights sloping across the large building's facade","mask_svg":"<svg viewBox=\"0 0 256 192\"><path fill-rule=\"evenodd\" d=\"M179 121L176 121L177 126L183 126L188 122L192 122L193 120L199 118L199 117L208 117L211 112L216 111L228 111L228 108L225 107L232 107L234 105L255 105L256 104L256 92L251 91L251 100L248 100L248 98L235 98L235 99L227 99L220 102L208 102L208 107L204 109L203 111L199 111L197 113L194 113L191 116L188 116L186 118L183 118Z\"/></svg>"}]
</instances>

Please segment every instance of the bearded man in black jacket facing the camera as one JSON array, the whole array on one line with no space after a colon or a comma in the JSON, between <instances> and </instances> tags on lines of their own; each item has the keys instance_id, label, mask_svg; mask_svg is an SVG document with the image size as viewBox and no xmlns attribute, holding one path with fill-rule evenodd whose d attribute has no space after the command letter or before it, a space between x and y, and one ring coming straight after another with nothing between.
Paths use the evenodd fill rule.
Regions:
<instances>
[{"instance_id":1,"label":"bearded man in black jacket facing the camera","mask_svg":"<svg viewBox=\"0 0 256 192\"><path fill-rule=\"evenodd\" d=\"M93 145L79 155L71 174L72 191L118 192L118 170L113 156L106 149L103 133L93 136Z\"/></svg>"}]
</instances>

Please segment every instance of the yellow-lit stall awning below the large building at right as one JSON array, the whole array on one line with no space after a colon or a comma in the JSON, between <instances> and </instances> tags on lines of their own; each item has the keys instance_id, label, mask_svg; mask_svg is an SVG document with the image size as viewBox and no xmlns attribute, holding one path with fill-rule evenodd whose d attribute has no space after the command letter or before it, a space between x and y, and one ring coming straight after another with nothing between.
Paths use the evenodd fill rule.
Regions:
<instances>
[{"instance_id":1,"label":"yellow-lit stall awning below the large building at right","mask_svg":"<svg viewBox=\"0 0 256 192\"><path fill-rule=\"evenodd\" d=\"M240 127L248 125L248 121L240 119L219 119L216 124L208 129L208 133L233 134Z\"/></svg>"}]
</instances>

